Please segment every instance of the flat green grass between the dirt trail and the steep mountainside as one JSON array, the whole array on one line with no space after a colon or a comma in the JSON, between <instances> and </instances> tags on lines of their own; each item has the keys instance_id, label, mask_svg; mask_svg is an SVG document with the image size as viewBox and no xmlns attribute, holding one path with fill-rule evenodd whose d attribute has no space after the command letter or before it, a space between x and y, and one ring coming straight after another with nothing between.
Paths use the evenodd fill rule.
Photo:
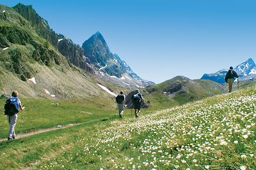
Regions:
<instances>
[{"instance_id":1,"label":"flat green grass between the dirt trail and the steep mountainside","mask_svg":"<svg viewBox=\"0 0 256 170\"><path fill-rule=\"evenodd\" d=\"M70 103L70 101L58 101L49 99L20 99L26 106L24 111L20 111L16 132L35 131L56 125L65 125L84 122L101 117L113 116L115 108L88 104L87 101L81 103ZM8 132L8 123L4 115L4 102L0 99L2 114L0 115L0 138L5 138Z\"/></svg>"}]
</instances>

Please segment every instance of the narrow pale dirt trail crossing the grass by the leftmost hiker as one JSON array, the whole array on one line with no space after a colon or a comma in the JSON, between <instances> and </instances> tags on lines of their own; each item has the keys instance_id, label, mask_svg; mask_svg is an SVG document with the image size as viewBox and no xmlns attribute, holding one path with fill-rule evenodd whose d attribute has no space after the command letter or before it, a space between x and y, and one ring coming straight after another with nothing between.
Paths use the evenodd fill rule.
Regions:
<instances>
[{"instance_id":1,"label":"narrow pale dirt trail crossing the grass by the leftmost hiker","mask_svg":"<svg viewBox=\"0 0 256 170\"><path fill-rule=\"evenodd\" d=\"M62 125L61 127L51 127L51 128L47 128L47 129L40 129L38 131L28 132L28 133L24 133L24 134L16 134L15 139L28 137L28 136L31 136L31 135L34 135L34 134L40 134L40 133L43 133L43 132L55 131L57 129L65 129L67 127L72 127L74 125L80 125L80 124L87 124L87 123L90 123L90 122L96 122L96 121L99 121L99 120L104 120L104 118L97 118L97 119L89 120L89 121L83 122L83 123ZM7 141L7 138L0 138L0 142L1 141Z\"/></svg>"}]
</instances>

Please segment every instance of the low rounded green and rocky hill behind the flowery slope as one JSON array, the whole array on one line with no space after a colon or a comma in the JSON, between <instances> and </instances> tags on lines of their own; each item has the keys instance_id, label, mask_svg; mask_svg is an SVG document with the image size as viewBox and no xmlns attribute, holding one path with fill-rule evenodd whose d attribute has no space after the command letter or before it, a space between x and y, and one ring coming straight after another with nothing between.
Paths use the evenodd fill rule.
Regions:
<instances>
[{"instance_id":1,"label":"low rounded green and rocky hill behind the flowery slope","mask_svg":"<svg viewBox=\"0 0 256 170\"><path fill-rule=\"evenodd\" d=\"M190 80L177 76L144 90L145 98L154 107L177 106L225 92L226 87L210 80Z\"/></svg>"}]
</instances>

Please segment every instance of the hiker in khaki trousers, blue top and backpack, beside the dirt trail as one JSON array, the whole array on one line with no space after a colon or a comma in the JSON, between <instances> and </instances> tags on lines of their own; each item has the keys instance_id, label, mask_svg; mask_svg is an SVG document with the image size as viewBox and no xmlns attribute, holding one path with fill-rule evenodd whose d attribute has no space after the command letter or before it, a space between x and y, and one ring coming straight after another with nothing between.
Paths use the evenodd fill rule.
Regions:
<instances>
[{"instance_id":1,"label":"hiker in khaki trousers, blue top and backpack, beside the dirt trail","mask_svg":"<svg viewBox=\"0 0 256 170\"><path fill-rule=\"evenodd\" d=\"M10 129L8 132L8 141L11 139L15 139L15 125L17 123L19 108L20 110L24 110L25 106L22 106L20 99L18 99L19 92L12 92L12 96L6 100L4 104L4 115L7 116L8 123L10 125Z\"/></svg>"}]
</instances>

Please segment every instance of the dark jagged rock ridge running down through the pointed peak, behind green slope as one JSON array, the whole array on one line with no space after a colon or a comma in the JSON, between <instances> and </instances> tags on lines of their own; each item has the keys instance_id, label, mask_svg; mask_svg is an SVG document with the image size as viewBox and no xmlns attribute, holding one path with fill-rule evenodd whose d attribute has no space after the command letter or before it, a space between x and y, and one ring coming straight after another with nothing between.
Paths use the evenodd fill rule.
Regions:
<instances>
[{"instance_id":1,"label":"dark jagged rock ridge running down through the pointed peak, behind green slope","mask_svg":"<svg viewBox=\"0 0 256 170\"><path fill-rule=\"evenodd\" d=\"M115 83L121 87L129 88L145 87L153 83L152 81L141 79L131 70L131 67L129 67L129 72L131 73L128 73L127 76L129 76L132 81L136 81L137 83L132 83L131 81L124 82L124 78L122 77L125 77L124 74L127 71L123 70L126 67L121 66L122 62L124 61L120 59L119 62L121 64L114 64L113 62L110 64L109 61L115 60L116 57L113 55L113 53L110 52L105 39L99 31L84 41L84 43L88 43L87 46L84 46L84 43L82 46L79 46L66 36L62 34L56 34L56 32L52 31L47 20L40 17L40 15L38 15L38 13L36 13L36 11L33 9L33 6L26 6L19 3L14 6L13 9L17 11L17 13L19 13L22 17L26 18L26 20L31 22L31 27L33 27L33 29L35 29L35 31L40 36L47 39L49 43L56 47L58 51L75 66L95 74L96 76L99 76L99 78L102 78L101 72L104 70L100 71L99 73L99 69L101 70L102 67L106 66L104 64L106 64L108 60L109 66L105 67L104 69L106 73L109 74L109 76L105 76L104 80L109 81L110 83ZM111 76L116 76L119 79L113 79ZM142 85L136 85L140 84L141 82Z\"/></svg>"}]
</instances>

